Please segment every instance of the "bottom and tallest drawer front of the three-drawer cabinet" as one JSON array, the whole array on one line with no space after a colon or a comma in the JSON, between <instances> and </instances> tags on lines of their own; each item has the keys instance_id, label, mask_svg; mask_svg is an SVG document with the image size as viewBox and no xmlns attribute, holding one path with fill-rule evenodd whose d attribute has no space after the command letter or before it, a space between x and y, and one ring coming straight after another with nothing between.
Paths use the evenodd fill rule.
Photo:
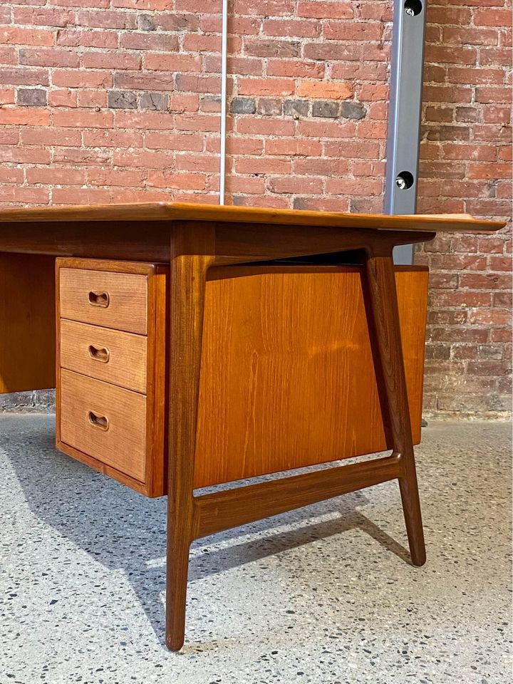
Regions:
<instances>
[{"instance_id":1,"label":"bottom and tallest drawer front of the three-drawer cabinet","mask_svg":"<svg viewBox=\"0 0 513 684\"><path fill-rule=\"evenodd\" d=\"M144 482L144 395L63 369L59 408L62 442Z\"/></svg>"}]
</instances>

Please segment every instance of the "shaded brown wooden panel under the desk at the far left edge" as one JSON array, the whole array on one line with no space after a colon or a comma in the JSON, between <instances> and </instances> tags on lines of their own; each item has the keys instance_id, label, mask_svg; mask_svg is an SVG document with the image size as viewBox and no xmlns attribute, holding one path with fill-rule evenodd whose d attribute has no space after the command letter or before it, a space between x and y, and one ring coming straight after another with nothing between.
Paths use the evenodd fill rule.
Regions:
<instances>
[{"instance_id":1,"label":"shaded brown wooden panel under the desk at the far left edge","mask_svg":"<svg viewBox=\"0 0 513 684\"><path fill-rule=\"evenodd\" d=\"M55 257L0 253L0 394L55 387Z\"/></svg>"}]
</instances>

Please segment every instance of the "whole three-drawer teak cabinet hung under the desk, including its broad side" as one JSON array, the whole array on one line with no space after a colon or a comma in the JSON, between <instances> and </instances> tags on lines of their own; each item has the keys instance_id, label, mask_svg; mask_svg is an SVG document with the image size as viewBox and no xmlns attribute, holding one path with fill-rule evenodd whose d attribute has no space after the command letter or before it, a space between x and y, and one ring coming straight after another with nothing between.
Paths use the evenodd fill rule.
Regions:
<instances>
[{"instance_id":1,"label":"whole three-drawer teak cabinet hung under the desk, including its broad side","mask_svg":"<svg viewBox=\"0 0 513 684\"><path fill-rule=\"evenodd\" d=\"M361 275L355 266L212 269L195 488L386 449ZM427 275L395 269L415 443ZM159 264L56 261L57 447L150 497L167 492L167 279Z\"/></svg>"}]
</instances>

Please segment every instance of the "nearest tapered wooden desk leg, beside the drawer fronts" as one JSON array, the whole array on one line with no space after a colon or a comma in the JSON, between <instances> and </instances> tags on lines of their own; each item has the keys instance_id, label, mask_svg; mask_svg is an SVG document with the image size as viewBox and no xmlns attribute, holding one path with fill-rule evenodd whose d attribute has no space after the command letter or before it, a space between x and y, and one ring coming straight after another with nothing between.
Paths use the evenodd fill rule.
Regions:
<instances>
[{"instance_id":1,"label":"nearest tapered wooden desk leg, beside the drawer fronts","mask_svg":"<svg viewBox=\"0 0 513 684\"><path fill-rule=\"evenodd\" d=\"M177 237L176 242L179 242ZM174 245L176 247L176 244ZM166 644L180 651L185 638L189 548L194 537L194 476L204 289L212 259L171 259L170 422L167 494Z\"/></svg>"}]
</instances>

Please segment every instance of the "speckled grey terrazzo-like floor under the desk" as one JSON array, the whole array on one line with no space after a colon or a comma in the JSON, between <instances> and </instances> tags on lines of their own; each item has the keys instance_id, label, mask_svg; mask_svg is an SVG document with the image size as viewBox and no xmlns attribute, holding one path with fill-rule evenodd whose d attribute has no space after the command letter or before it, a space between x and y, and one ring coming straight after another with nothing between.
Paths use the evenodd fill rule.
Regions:
<instances>
[{"instance_id":1,"label":"speckled grey terrazzo-like floor under the desk","mask_svg":"<svg viewBox=\"0 0 513 684\"><path fill-rule=\"evenodd\" d=\"M395 482L195 543L173 654L165 499L57 452L53 416L0 415L0 683L509 683L509 435L423 431L422 569Z\"/></svg>"}]
</instances>

